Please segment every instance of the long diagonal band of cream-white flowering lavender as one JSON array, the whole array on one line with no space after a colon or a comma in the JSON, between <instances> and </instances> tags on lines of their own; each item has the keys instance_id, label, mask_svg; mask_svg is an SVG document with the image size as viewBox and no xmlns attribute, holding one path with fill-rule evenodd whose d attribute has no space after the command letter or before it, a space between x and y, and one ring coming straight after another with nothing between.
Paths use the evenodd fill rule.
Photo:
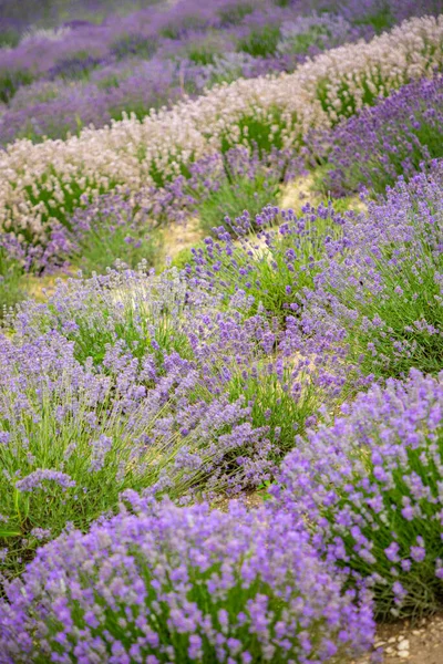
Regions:
<instances>
[{"instance_id":1,"label":"long diagonal band of cream-white flowering lavender","mask_svg":"<svg viewBox=\"0 0 443 664\"><path fill-rule=\"evenodd\" d=\"M245 118L284 146L297 146L311 128L331 126L374 95L442 65L443 15L412 19L369 43L328 51L292 74L220 85L142 122L126 117L65 142L18 141L0 157L0 228L43 235L81 194L136 193L156 174L177 174L181 164L219 149L224 138L247 144Z\"/></svg>"}]
</instances>

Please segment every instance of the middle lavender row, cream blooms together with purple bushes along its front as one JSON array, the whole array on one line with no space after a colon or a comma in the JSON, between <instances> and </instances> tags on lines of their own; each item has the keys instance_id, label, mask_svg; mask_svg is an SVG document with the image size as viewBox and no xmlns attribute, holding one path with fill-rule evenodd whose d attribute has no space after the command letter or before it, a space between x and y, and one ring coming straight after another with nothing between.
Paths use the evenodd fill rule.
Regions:
<instances>
[{"instance_id":1,"label":"middle lavender row, cream blooms together with purple bushes along its front","mask_svg":"<svg viewBox=\"0 0 443 664\"><path fill-rule=\"evenodd\" d=\"M234 216L258 211L277 199L281 181L318 172L319 163L323 190L383 189L440 156L442 31L441 17L414 19L293 74L240 80L143 122L127 118L64 143L10 145L0 158L3 253L40 271L110 238L107 262L124 246L121 258L135 264L141 251L153 253L146 231L158 224L197 212L210 228L228 198ZM368 104L377 105L362 111ZM356 133L360 160L352 159ZM300 146L306 154L295 152ZM110 205L113 216L96 216Z\"/></svg>"}]
</instances>

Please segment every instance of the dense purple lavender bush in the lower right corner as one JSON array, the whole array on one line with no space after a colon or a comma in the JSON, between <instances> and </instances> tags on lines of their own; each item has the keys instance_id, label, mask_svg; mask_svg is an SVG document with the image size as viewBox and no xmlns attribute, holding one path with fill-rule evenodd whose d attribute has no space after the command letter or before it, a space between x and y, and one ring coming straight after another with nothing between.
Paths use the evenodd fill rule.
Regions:
<instances>
[{"instance_id":1,"label":"dense purple lavender bush in the lower right corner","mask_svg":"<svg viewBox=\"0 0 443 664\"><path fill-rule=\"evenodd\" d=\"M442 407L443 374L374 385L299 440L274 489L328 561L372 580L381 616L441 608Z\"/></svg>"}]
</instances>

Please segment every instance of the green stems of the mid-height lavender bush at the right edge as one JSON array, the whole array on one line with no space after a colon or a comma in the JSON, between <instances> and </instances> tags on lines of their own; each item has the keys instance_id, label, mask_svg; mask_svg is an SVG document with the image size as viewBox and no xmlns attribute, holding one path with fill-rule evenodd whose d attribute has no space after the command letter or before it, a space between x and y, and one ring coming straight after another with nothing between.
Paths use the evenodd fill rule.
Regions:
<instances>
[{"instance_id":1,"label":"green stems of the mid-height lavender bush at the right edge","mask_svg":"<svg viewBox=\"0 0 443 664\"><path fill-rule=\"evenodd\" d=\"M437 218L432 205L430 210ZM402 377L412 367L425 374L443 369L439 332L443 329L443 308L436 277L443 271L443 255L435 249L432 226L421 227L420 212L412 206L410 215L416 222L411 240L396 243L387 239L377 251L367 249L370 273L362 269L361 259L338 287L327 286L343 311L350 312L340 319L350 364L374 378Z\"/></svg>"}]
</instances>

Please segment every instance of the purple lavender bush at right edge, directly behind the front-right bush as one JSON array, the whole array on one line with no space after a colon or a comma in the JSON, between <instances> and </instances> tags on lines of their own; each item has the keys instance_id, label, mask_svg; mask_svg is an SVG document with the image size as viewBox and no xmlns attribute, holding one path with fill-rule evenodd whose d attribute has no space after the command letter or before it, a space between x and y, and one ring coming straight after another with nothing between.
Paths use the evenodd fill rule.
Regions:
<instances>
[{"instance_id":1,"label":"purple lavender bush at right edge, directly behind the front-right bush","mask_svg":"<svg viewBox=\"0 0 443 664\"><path fill-rule=\"evenodd\" d=\"M358 377L442 370L442 163L344 225L340 250L288 320L282 346L305 355L339 353Z\"/></svg>"}]
</instances>

